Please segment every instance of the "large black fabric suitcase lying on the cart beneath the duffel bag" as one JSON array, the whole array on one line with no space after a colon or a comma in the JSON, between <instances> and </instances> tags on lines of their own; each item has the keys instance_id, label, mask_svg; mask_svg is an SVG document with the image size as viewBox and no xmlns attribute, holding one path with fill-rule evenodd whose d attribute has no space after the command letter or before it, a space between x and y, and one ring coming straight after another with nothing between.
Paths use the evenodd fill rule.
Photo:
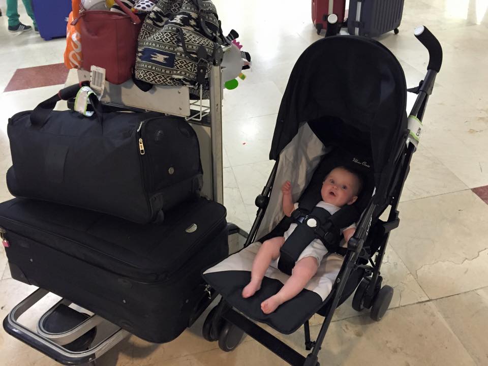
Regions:
<instances>
[{"instance_id":1,"label":"large black fabric suitcase lying on the cart beneath the duffel bag","mask_svg":"<svg viewBox=\"0 0 488 366\"><path fill-rule=\"evenodd\" d=\"M140 225L43 201L0 204L12 278L150 342L175 339L209 301L204 268L228 255L225 207L204 198Z\"/></svg>"}]
</instances>

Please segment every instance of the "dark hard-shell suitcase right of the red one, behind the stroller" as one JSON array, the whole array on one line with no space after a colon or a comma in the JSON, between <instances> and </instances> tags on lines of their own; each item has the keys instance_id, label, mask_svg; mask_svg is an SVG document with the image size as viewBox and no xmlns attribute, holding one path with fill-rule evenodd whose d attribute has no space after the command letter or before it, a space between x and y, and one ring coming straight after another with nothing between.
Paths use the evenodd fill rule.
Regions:
<instances>
[{"instance_id":1,"label":"dark hard-shell suitcase right of the red one, behind the stroller","mask_svg":"<svg viewBox=\"0 0 488 366\"><path fill-rule=\"evenodd\" d=\"M405 0L351 0L347 29L356 36L378 37L394 31L402 21Z\"/></svg>"}]
</instances>

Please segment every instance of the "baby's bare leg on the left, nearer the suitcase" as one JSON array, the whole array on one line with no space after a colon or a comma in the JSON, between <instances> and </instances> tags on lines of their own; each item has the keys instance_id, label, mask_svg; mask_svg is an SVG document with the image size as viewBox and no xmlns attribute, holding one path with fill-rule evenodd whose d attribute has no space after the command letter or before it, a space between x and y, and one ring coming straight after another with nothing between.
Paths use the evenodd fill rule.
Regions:
<instances>
[{"instance_id":1,"label":"baby's bare leg on the left, nearer the suitcase","mask_svg":"<svg viewBox=\"0 0 488 366\"><path fill-rule=\"evenodd\" d=\"M285 238L283 236L277 236L263 242L254 258L251 282L242 290L243 298L251 297L261 288L261 281L266 269L268 269L272 260L280 256L280 248L283 247L284 243Z\"/></svg>"}]
</instances>

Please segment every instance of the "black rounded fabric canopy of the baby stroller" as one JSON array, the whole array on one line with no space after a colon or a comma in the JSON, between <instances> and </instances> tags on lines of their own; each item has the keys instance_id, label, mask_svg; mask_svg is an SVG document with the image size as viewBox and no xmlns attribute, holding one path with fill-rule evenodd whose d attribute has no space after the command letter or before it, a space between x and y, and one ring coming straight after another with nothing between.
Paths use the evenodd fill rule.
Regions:
<instances>
[{"instance_id":1,"label":"black rounded fabric canopy of the baby stroller","mask_svg":"<svg viewBox=\"0 0 488 366\"><path fill-rule=\"evenodd\" d=\"M372 159L375 201L386 194L407 131L407 87L398 60L379 42L335 36L308 47L290 75L270 159L304 123L325 145Z\"/></svg>"}]
</instances>

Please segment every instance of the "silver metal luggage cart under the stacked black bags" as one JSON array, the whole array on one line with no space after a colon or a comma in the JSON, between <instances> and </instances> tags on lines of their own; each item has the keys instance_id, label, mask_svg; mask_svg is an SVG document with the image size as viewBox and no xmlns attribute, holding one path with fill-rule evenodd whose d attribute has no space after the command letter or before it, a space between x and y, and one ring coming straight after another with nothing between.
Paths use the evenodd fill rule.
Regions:
<instances>
[{"instance_id":1,"label":"silver metal luggage cart under the stacked black bags","mask_svg":"<svg viewBox=\"0 0 488 366\"><path fill-rule=\"evenodd\" d=\"M223 204L223 163L222 163L222 71L221 66L212 66L211 73L209 75L210 81L210 98L209 106L202 107L201 101L191 102L189 98L188 87L164 87L159 86L155 96L157 100L154 100L154 105L157 107L154 109L161 113L175 114L184 116L187 114L187 121L193 125L197 132L201 146L201 159L202 164L205 165L207 171L211 170L211 175L204 177L204 193L212 200ZM79 75L81 80L86 79L85 74ZM124 85L108 85L108 92L104 97L108 99L108 105L115 107L121 107L125 110L131 109L134 111L146 110L147 105L141 105L137 107L137 98L132 101L130 105L124 104L124 101L120 98L123 86L132 88L134 85L127 82ZM111 89L111 92L110 92ZM133 90L133 88L131 89ZM161 99L159 99L161 98ZM111 99L115 99L117 102L110 102ZM102 99L105 101L104 99ZM192 106L198 106L199 111L192 109ZM203 109L205 108L205 109ZM179 114L176 114L175 111ZM242 231L241 231L242 232ZM0 232L0 236L3 233ZM49 293L48 290L39 288L31 295L27 296L24 300L17 304L10 311L7 317L3 321L3 327L7 333L22 341L23 343L31 346L34 349L44 353L50 358L56 360L62 364L94 364L95 360L129 337L131 334L121 329L107 320L101 318L98 315L92 315L87 317L81 323L74 327L69 326L68 329L63 329L60 332L49 332L44 328L45 321L50 314L56 312L56 309L60 305L69 306L72 302L68 299L59 300L54 306L46 312L37 324L37 331L31 330L22 325L18 319L26 311L31 309ZM217 293L214 289L206 286L202 292L202 299L194 309L193 315L189 320L189 326L195 322L195 320L205 311L212 300L215 299ZM76 313L76 312L75 312ZM79 313L77 314L79 315ZM72 320L69 320L71 323ZM115 328L111 335L108 335L105 339L94 346L90 346L86 350L72 351L64 347L70 344L74 340L82 337L89 338L88 332L97 326L109 326ZM93 339L88 342L92 343Z\"/></svg>"}]
</instances>

